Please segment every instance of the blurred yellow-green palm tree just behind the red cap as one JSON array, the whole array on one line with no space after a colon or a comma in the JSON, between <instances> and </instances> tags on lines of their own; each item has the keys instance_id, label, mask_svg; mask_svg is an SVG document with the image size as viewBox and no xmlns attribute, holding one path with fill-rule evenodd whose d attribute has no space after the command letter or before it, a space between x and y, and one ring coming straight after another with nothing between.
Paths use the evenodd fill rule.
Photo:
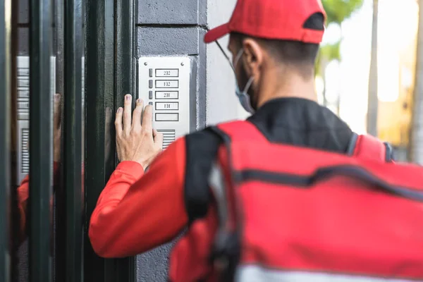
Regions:
<instances>
[{"instance_id":1,"label":"blurred yellow-green palm tree just behind the red cap","mask_svg":"<svg viewBox=\"0 0 423 282\"><path fill-rule=\"evenodd\" d=\"M326 26L330 24L336 24L341 27L343 20L349 18L351 14L360 8L363 4L363 0L322 0L321 3L326 11L327 20ZM326 78L325 70L326 66L333 60L341 60L340 46L341 39L333 44L323 45L319 51L316 62L316 75L321 76L324 81L324 104L326 105Z\"/></svg>"}]
</instances>

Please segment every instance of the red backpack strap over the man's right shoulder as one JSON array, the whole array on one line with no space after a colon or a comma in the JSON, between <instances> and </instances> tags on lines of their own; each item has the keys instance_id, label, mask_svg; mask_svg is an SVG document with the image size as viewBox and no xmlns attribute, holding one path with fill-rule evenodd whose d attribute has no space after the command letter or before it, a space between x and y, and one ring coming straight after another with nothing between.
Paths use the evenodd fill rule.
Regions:
<instances>
[{"instance_id":1,"label":"red backpack strap over the man's right shoulder","mask_svg":"<svg viewBox=\"0 0 423 282\"><path fill-rule=\"evenodd\" d=\"M373 159L378 161L393 161L393 149L387 142L372 135L357 135L353 133L347 154L360 159Z\"/></svg>"}]
</instances>

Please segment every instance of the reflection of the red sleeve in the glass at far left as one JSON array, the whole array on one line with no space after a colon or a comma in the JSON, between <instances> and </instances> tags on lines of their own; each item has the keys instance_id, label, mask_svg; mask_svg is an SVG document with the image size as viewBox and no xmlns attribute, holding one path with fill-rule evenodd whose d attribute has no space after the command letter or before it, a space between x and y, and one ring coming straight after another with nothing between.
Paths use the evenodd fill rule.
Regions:
<instances>
[{"instance_id":1,"label":"reflection of the red sleeve in the glass at far left","mask_svg":"<svg viewBox=\"0 0 423 282\"><path fill-rule=\"evenodd\" d=\"M56 182L57 172L59 170L59 163L54 162L53 164L53 175L54 180ZM30 176L25 176L20 186L18 187L18 209L19 209L19 216L20 216L20 224L19 224L19 237L20 240L25 240L26 237L26 230L27 230L27 209L28 209L28 201L30 199Z\"/></svg>"}]
</instances>

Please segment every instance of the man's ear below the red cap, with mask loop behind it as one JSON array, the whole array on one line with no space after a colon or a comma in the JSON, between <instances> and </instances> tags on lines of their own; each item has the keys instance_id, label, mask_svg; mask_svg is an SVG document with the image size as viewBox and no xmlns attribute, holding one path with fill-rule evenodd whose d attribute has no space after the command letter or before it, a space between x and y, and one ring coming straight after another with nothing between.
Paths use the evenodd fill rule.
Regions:
<instances>
[{"instance_id":1,"label":"man's ear below the red cap, with mask loop behind it","mask_svg":"<svg viewBox=\"0 0 423 282\"><path fill-rule=\"evenodd\" d=\"M255 39L246 38L243 40L243 64L248 76L259 74L263 63L263 49Z\"/></svg>"}]
</instances>

